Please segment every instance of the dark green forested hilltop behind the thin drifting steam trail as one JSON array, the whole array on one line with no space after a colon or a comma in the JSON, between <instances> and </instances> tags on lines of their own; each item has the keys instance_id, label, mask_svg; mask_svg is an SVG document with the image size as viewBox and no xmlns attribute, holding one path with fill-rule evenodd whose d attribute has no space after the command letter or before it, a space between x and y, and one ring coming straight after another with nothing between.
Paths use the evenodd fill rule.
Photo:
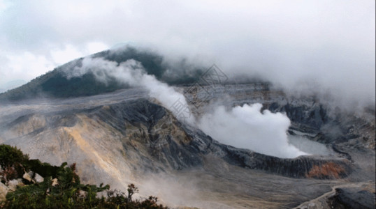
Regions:
<instances>
[{"instance_id":1,"label":"dark green forested hilltop behind the thin drifting steam trail","mask_svg":"<svg viewBox=\"0 0 376 209\"><path fill-rule=\"evenodd\" d=\"M153 52L146 52L133 47L117 49L115 51L103 51L91 55L92 58L103 58L107 61L122 63L129 59L140 62L149 75L167 84L187 84L194 82L202 72L200 69L192 69L187 66L185 60L171 65L164 61L164 58ZM59 66L54 70L32 79L31 82L18 88L0 94L0 100L24 100L35 98L71 98L78 96L96 95L108 93L129 86L124 82L118 82L109 78L106 84L95 79L92 72L87 72L81 77L67 77L67 72L72 72L76 67L82 65L84 58L75 59L69 63ZM171 75L167 71L173 70Z\"/></svg>"}]
</instances>

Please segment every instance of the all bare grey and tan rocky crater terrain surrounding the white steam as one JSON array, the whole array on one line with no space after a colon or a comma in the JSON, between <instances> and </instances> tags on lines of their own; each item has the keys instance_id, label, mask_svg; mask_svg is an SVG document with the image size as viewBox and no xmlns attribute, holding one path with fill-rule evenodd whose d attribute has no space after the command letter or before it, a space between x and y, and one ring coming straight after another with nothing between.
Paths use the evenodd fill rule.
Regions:
<instances>
[{"instance_id":1,"label":"all bare grey and tan rocky crater terrain surrounding the white steam","mask_svg":"<svg viewBox=\"0 0 376 209\"><path fill-rule=\"evenodd\" d=\"M186 96L193 94L199 92ZM375 192L364 188L375 183L375 118L331 115L317 102L287 98L263 84L222 86L195 114L219 98L229 106L262 102L264 108L285 111L290 134L319 141L333 153L281 159L220 144L178 121L140 88L2 104L0 138L31 158L57 165L77 162L85 183L120 189L136 183L172 207L340 207L356 200L332 188L349 183L356 189L346 190L345 197L364 194L372 203ZM328 127L340 134L333 136Z\"/></svg>"}]
</instances>

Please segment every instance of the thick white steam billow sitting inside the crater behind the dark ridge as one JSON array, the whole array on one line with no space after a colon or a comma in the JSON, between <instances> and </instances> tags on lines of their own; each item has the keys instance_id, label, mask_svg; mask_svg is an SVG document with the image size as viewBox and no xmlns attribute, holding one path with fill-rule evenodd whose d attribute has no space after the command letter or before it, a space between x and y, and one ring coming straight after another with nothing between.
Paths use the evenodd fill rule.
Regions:
<instances>
[{"instance_id":1,"label":"thick white steam billow sitting inside the crater behind the dark ridge","mask_svg":"<svg viewBox=\"0 0 376 209\"><path fill-rule=\"evenodd\" d=\"M198 127L223 144L249 148L258 153L276 157L308 155L289 144L289 118L281 113L264 110L262 104L244 104L226 111L219 106L212 114L204 114Z\"/></svg>"}]
</instances>

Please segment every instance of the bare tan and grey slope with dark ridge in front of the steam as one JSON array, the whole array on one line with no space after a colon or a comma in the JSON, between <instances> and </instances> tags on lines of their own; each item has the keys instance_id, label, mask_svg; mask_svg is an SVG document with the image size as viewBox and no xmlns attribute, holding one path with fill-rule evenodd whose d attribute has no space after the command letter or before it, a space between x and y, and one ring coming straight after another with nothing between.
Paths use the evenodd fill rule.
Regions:
<instances>
[{"instance_id":1,"label":"bare tan and grey slope with dark ridge in front of the steam","mask_svg":"<svg viewBox=\"0 0 376 209\"><path fill-rule=\"evenodd\" d=\"M84 183L159 191L169 206L291 208L360 172L340 155L280 159L219 144L140 91L107 96L2 107L0 140L52 164L77 162Z\"/></svg>"}]
</instances>

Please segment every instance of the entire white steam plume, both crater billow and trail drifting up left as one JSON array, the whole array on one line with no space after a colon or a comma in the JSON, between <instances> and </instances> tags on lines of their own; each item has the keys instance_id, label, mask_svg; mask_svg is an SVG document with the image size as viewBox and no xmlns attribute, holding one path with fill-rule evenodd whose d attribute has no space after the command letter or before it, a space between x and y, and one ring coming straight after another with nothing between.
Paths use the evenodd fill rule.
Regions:
<instances>
[{"instance_id":1,"label":"entire white steam plume, both crater billow and trail drifting up left","mask_svg":"<svg viewBox=\"0 0 376 209\"><path fill-rule=\"evenodd\" d=\"M120 64L101 58L85 58L82 66L72 71L66 71L66 76L80 77L91 72L98 81L108 84L112 79L134 87L143 87L150 96L156 98L164 107L171 109L180 120L194 124L196 119L189 109L189 118L180 118L173 105L179 101L183 107L189 107L185 96L173 87L159 82L153 75L147 75L143 65L133 59ZM290 121L286 115L273 114L268 110L261 113L262 104L245 104L226 111L223 106L216 107L212 114L204 114L198 121L198 127L214 139L237 148L249 148L258 153L277 157L297 157L307 155L295 146L289 144L287 129Z\"/></svg>"}]
</instances>

